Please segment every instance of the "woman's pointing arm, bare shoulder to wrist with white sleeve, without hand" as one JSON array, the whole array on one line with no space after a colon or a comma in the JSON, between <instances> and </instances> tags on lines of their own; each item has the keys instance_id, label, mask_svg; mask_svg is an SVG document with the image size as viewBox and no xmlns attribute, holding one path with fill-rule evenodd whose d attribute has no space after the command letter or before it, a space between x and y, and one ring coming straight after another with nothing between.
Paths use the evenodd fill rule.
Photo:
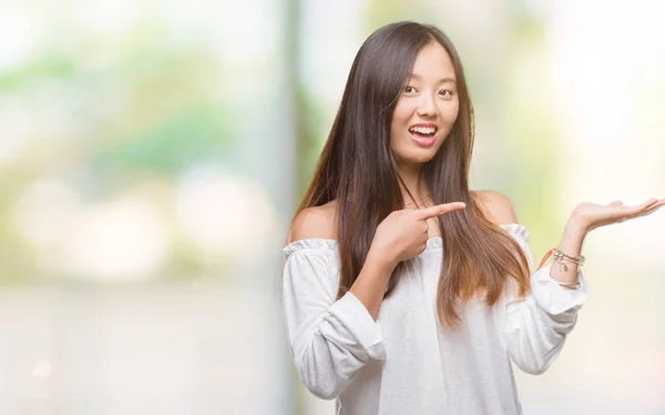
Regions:
<instances>
[{"instance_id":1,"label":"woman's pointing arm, bare shoulder to wrist with white sleeve, without hand","mask_svg":"<svg viewBox=\"0 0 665 415\"><path fill-rule=\"evenodd\" d=\"M332 221L314 210L295 221L289 240L297 242L285 250L284 311L298 375L316 396L332 399L370 358L386 358L376 318L395 265L370 250L350 292L336 301Z\"/></svg>"}]
</instances>

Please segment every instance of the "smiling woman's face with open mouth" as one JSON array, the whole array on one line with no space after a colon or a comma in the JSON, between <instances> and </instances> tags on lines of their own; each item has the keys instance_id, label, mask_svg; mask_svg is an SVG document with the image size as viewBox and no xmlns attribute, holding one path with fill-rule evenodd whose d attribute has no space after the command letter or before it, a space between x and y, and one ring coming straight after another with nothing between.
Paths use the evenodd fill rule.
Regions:
<instances>
[{"instance_id":1,"label":"smiling woman's face with open mouth","mask_svg":"<svg viewBox=\"0 0 665 415\"><path fill-rule=\"evenodd\" d=\"M399 165L430 161L448 136L459 110L450 55L438 42L423 47L397 101L390 146Z\"/></svg>"}]
</instances>

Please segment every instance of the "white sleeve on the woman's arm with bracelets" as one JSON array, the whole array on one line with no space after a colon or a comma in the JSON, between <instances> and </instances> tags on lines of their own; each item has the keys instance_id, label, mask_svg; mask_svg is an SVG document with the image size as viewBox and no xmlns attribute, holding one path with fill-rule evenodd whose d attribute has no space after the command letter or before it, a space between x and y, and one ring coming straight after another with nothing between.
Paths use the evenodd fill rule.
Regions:
<instances>
[{"instance_id":1,"label":"white sleeve on the woman's arm with bracelets","mask_svg":"<svg viewBox=\"0 0 665 415\"><path fill-rule=\"evenodd\" d=\"M504 303L503 334L511 360L522 371L542 374L561 353L567 334L577 321L577 312L589 296L582 269L577 277L581 287L564 290L550 277L548 264L538 271L526 240L529 232L519 224L502 225L518 241L532 272L531 292L523 300L509 294Z\"/></svg>"}]
</instances>

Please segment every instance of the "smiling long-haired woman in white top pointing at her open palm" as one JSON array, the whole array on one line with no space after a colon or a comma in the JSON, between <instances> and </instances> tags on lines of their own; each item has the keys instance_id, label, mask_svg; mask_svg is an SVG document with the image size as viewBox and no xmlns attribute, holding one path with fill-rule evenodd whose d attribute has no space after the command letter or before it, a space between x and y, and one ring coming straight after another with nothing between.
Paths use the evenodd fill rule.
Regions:
<instances>
[{"instance_id":1,"label":"smiling long-haired woman in white top pointing at her open palm","mask_svg":"<svg viewBox=\"0 0 665 415\"><path fill-rule=\"evenodd\" d=\"M295 366L340 414L520 414L510 361L540 374L561 352L586 233L665 204L582 203L534 270L511 201L469 190L472 120L440 30L392 23L360 48L284 249Z\"/></svg>"}]
</instances>

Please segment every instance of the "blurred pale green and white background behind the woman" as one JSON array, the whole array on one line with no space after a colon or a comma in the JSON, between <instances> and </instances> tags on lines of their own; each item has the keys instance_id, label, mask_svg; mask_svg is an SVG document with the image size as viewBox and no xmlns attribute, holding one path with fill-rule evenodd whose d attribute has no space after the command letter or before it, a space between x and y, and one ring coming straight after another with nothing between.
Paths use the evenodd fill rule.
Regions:
<instances>
[{"instance_id":1,"label":"blurred pale green and white background behind the woman","mask_svg":"<svg viewBox=\"0 0 665 415\"><path fill-rule=\"evenodd\" d=\"M362 41L457 45L472 189L536 262L583 201L665 196L664 7L572 0L4 0L0 413L332 414L293 370L286 229ZM665 213L592 232L529 414L665 414Z\"/></svg>"}]
</instances>

